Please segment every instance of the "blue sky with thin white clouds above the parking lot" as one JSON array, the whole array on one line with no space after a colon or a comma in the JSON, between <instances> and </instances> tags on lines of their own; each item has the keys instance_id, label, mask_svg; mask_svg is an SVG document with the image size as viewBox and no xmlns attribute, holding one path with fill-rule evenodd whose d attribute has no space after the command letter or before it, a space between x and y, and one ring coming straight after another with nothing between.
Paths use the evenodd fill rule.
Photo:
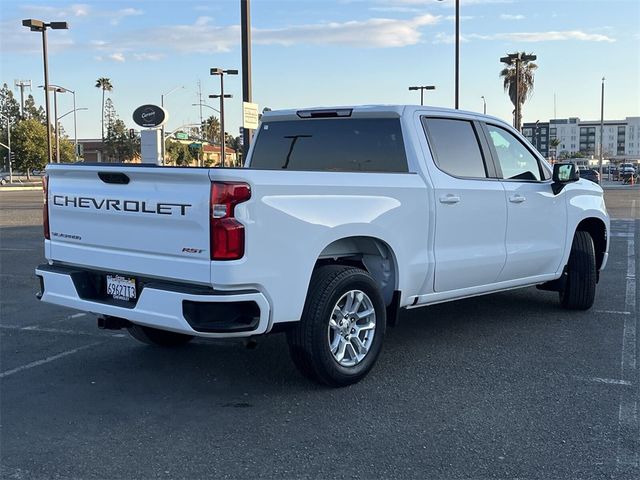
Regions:
<instances>
[{"instance_id":1,"label":"blue sky with thin white clouds above the parking lot","mask_svg":"<svg viewBox=\"0 0 640 480\"><path fill-rule=\"evenodd\" d=\"M253 0L253 95L263 107L419 103L407 87L436 85L426 103L452 107L453 0ZM460 107L511 121L512 105L498 78L499 58L537 54L539 69L524 120L640 115L640 1L461 0ZM80 137L100 136L98 77L111 79L118 115L165 98L168 129L197 123L197 82L203 97L219 93L209 67L240 68L239 0L128 0L0 3L0 82L43 83L41 40L24 18L66 20L49 31L50 82L76 90ZM241 78L228 77L227 128L241 121ZM16 94L18 92L16 91ZM43 100L41 89L34 97ZM59 97L59 113L72 107ZM205 116L214 113L205 109ZM72 115L63 120L72 132Z\"/></svg>"}]
</instances>

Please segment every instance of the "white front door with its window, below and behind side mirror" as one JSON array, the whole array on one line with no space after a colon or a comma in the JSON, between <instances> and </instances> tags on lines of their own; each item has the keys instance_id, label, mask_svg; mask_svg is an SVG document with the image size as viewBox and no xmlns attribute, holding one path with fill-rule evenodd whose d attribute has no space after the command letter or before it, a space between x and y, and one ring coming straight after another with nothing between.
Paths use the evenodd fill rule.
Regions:
<instances>
[{"instance_id":1,"label":"white front door with its window, below and behind side mirror","mask_svg":"<svg viewBox=\"0 0 640 480\"><path fill-rule=\"evenodd\" d=\"M507 263L498 281L555 273L564 254L567 205L551 173L512 132L486 124L507 200Z\"/></svg>"}]
</instances>

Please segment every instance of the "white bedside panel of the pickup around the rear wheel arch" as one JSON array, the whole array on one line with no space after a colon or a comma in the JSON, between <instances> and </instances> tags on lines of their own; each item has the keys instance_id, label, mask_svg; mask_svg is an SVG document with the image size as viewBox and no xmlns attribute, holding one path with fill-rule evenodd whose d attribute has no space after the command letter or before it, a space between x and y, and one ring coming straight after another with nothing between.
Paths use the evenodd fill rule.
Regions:
<instances>
[{"instance_id":1,"label":"white bedside panel of the pickup around the rear wheel arch","mask_svg":"<svg viewBox=\"0 0 640 480\"><path fill-rule=\"evenodd\" d=\"M211 171L212 180L245 181L251 200L236 207L246 227L241 260L212 262L214 288L256 288L269 298L273 322L300 319L313 267L335 240L368 236L387 243L403 298L424 283L428 208L415 174Z\"/></svg>"}]
</instances>

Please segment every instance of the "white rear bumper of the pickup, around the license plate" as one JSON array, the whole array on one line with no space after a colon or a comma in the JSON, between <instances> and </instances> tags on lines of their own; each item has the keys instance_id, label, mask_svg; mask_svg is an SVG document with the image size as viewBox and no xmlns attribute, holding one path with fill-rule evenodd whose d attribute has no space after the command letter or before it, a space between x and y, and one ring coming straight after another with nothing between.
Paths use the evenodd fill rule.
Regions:
<instances>
[{"instance_id":1,"label":"white rear bumper of the pickup, around the license plate","mask_svg":"<svg viewBox=\"0 0 640 480\"><path fill-rule=\"evenodd\" d=\"M89 272L77 268L40 265L36 275L43 302L139 325L209 338L248 337L271 329L269 303L254 290L221 292L150 281L142 285L137 302L129 304L91 298L86 286Z\"/></svg>"}]
</instances>

